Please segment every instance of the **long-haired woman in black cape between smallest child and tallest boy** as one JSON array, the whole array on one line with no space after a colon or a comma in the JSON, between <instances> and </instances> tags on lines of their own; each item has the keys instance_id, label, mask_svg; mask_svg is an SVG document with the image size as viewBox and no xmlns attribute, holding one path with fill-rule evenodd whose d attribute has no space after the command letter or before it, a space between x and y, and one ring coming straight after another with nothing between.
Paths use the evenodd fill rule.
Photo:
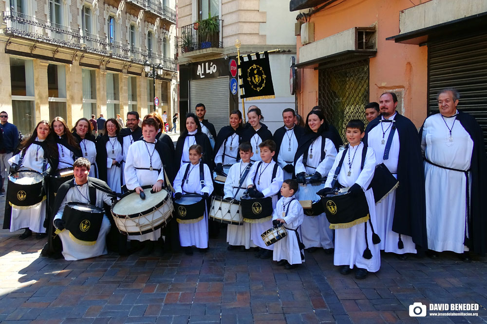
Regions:
<instances>
[{"instance_id":1,"label":"long-haired woman in black cape between smallest child and tallest boy","mask_svg":"<svg viewBox=\"0 0 487 324\"><path fill-rule=\"evenodd\" d=\"M306 183L306 174L311 175L312 183L328 175L339 146L343 144L333 129L318 110L312 110L306 117L304 135L300 138L294 157L296 179L300 184ZM325 249L327 254L333 252L333 230L330 229L325 213L314 217L305 216L301 229L302 242L309 252L319 247Z\"/></svg>"}]
</instances>

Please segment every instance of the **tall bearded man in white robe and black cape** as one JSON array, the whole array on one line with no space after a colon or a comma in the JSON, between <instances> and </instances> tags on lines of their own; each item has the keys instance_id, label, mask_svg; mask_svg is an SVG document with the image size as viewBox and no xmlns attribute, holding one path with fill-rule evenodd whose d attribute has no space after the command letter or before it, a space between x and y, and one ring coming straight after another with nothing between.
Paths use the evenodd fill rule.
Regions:
<instances>
[{"instance_id":1,"label":"tall bearded man in white robe and black cape","mask_svg":"<svg viewBox=\"0 0 487 324\"><path fill-rule=\"evenodd\" d=\"M381 250L405 260L407 253L416 253L415 245L425 249L428 244L421 147L412 121L396 112L395 93L383 93L379 105L381 116L367 126L364 143L374 149L376 164L384 163L399 187L376 204L375 232Z\"/></svg>"}]
</instances>

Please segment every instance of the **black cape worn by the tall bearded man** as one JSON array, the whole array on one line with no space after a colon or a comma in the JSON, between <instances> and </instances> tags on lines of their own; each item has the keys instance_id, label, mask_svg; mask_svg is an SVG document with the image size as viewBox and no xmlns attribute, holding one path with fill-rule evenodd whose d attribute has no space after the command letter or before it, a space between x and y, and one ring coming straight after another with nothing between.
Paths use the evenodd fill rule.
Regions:
<instances>
[{"instance_id":1,"label":"black cape worn by the tall bearded man","mask_svg":"<svg viewBox=\"0 0 487 324\"><path fill-rule=\"evenodd\" d=\"M381 116L372 120L363 142L367 146L369 132L379 124ZM394 117L395 127L399 135L399 158L397 162L397 180L394 206L393 231L412 237L412 241L428 248L426 236L426 203L423 157L421 142L416 126L412 121L397 113Z\"/></svg>"}]
</instances>

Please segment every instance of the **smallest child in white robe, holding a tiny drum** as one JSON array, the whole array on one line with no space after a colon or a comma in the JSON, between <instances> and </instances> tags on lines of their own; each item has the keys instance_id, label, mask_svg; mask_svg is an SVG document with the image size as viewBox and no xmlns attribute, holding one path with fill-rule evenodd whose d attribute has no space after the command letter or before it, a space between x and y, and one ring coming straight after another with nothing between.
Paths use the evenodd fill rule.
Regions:
<instances>
[{"instance_id":1,"label":"smallest child in white robe, holding a tiny drum","mask_svg":"<svg viewBox=\"0 0 487 324\"><path fill-rule=\"evenodd\" d=\"M287 236L274 243L273 260L278 266L294 269L304 261L304 251L301 251L301 229L304 213L299 200L294 197L298 191L298 182L293 179L284 180L281 186L281 199L277 202L272 223L279 223L287 229Z\"/></svg>"}]
</instances>

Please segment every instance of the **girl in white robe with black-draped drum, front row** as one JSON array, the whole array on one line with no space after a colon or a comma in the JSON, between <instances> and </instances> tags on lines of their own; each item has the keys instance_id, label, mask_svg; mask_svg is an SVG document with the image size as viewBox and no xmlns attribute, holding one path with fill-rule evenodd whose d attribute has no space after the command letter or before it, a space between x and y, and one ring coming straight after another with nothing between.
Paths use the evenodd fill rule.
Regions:
<instances>
[{"instance_id":1,"label":"girl in white robe with black-draped drum, front row","mask_svg":"<svg viewBox=\"0 0 487 324\"><path fill-rule=\"evenodd\" d=\"M183 194L197 193L203 195L205 208L202 210L203 218L195 223L179 223L179 241L185 247L188 256L193 255L192 246L206 252L208 248L208 197L213 192L213 178L210 169L201 161L203 148L194 144L189 147L189 162L179 169L174 179L174 199L178 200ZM200 163L203 163L204 179L200 177ZM186 172L187 171L187 172ZM186 176L185 176L186 175ZM203 183L201 182L203 181Z\"/></svg>"}]
</instances>

